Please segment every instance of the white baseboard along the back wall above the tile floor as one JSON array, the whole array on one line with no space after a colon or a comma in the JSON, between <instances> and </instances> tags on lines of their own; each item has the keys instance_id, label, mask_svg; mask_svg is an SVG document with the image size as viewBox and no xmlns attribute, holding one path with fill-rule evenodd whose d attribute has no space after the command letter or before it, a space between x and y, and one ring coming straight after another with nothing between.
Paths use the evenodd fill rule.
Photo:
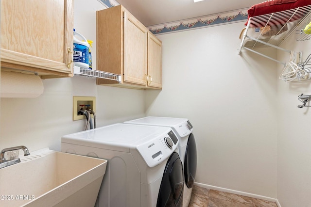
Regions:
<instances>
[{"instance_id":1,"label":"white baseboard along the back wall above the tile floor","mask_svg":"<svg viewBox=\"0 0 311 207\"><path fill-rule=\"evenodd\" d=\"M224 192L234 193L234 194L238 194L238 195L248 196L251 198L258 198L261 200L276 202L277 207L281 207L280 203L278 202L278 200L276 198L266 197L266 196L248 193L248 192L243 192L243 191L235 191L235 190L231 190L231 189L227 189L227 188L221 188L221 187L217 187L217 186L211 186L211 185L207 185L207 184L203 184L203 183L194 183L194 185L202 187L202 188L211 189L211 190L224 191Z\"/></svg>"}]
</instances>

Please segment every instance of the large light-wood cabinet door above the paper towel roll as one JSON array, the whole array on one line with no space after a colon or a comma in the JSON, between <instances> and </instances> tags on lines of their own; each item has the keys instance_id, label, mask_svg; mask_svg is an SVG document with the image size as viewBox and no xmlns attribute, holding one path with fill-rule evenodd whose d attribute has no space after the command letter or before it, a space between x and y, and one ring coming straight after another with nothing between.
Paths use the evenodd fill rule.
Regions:
<instances>
[{"instance_id":1,"label":"large light-wood cabinet door above the paper towel roll","mask_svg":"<svg viewBox=\"0 0 311 207\"><path fill-rule=\"evenodd\" d=\"M72 47L72 0L1 0L2 67L72 76Z\"/></svg>"}]
</instances>

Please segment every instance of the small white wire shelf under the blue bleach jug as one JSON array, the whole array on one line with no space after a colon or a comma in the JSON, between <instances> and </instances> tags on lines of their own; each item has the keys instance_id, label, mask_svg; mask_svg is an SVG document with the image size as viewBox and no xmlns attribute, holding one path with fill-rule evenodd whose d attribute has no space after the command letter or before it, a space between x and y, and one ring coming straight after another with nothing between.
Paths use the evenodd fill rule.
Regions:
<instances>
[{"instance_id":1,"label":"small white wire shelf under the blue bleach jug","mask_svg":"<svg viewBox=\"0 0 311 207\"><path fill-rule=\"evenodd\" d=\"M104 71L99 70L89 70L85 68L80 68L77 66L74 66L74 75L79 76L86 76L86 77L92 77L92 78L100 78L100 79L108 79L108 80L116 80L119 83L121 82L121 75L113 74L113 73L107 73Z\"/></svg>"}]
</instances>

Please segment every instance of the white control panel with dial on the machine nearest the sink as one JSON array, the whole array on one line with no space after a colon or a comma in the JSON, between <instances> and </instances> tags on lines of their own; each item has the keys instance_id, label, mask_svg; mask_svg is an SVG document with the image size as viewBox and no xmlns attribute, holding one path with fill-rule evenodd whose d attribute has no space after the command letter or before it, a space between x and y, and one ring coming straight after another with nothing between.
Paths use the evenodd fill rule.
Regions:
<instances>
[{"instance_id":1,"label":"white control panel with dial on the machine nearest the sink","mask_svg":"<svg viewBox=\"0 0 311 207\"><path fill-rule=\"evenodd\" d=\"M178 143L177 136L169 128L169 131L165 134L148 140L146 143L139 144L137 150L149 167L155 167L171 156L176 150Z\"/></svg>"}]
</instances>

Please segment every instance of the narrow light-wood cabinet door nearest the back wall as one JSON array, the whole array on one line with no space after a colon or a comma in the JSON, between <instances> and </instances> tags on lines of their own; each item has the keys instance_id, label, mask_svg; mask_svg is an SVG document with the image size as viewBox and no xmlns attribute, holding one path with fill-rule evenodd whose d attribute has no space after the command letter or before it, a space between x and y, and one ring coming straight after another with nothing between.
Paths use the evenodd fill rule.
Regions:
<instances>
[{"instance_id":1,"label":"narrow light-wood cabinet door nearest the back wall","mask_svg":"<svg viewBox=\"0 0 311 207\"><path fill-rule=\"evenodd\" d=\"M148 86L162 88L162 42L148 33Z\"/></svg>"}]
</instances>

